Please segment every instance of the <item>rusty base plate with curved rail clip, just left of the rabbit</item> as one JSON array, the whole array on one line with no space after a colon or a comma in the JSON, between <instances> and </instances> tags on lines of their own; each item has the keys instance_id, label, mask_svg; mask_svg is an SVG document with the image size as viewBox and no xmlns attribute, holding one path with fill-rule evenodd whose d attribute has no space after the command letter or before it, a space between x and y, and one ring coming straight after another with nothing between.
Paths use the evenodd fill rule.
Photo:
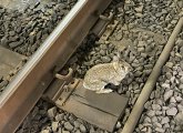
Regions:
<instances>
[{"instance_id":1,"label":"rusty base plate with curved rail clip, just left of the rabbit","mask_svg":"<svg viewBox=\"0 0 183 133\"><path fill-rule=\"evenodd\" d=\"M74 89L78 86L80 80L72 76L73 70L69 68L68 74L63 75L55 73L55 80L42 96L44 100L51 101L58 106L64 105Z\"/></svg>"}]
</instances>

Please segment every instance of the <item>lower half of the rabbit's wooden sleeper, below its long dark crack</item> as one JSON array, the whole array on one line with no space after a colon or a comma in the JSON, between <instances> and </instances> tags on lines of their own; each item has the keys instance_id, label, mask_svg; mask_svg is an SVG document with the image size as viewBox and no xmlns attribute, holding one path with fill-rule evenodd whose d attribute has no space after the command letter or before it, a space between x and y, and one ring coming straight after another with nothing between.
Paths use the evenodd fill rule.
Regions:
<instances>
[{"instance_id":1,"label":"lower half of the rabbit's wooden sleeper, below its long dark crack","mask_svg":"<svg viewBox=\"0 0 183 133\"><path fill-rule=\"evenodd\" d=\"M73 113L78 117L88 121L91 124L94 124L101 129L108 130L110 132L113 131L115 123L119 117L111 115L110 113L105 113L95 108L91 108L88 104L83 104L81 102L75 101L73 96L71 96L64 106L61 109Z\"/></svg>"}]
</instances>

